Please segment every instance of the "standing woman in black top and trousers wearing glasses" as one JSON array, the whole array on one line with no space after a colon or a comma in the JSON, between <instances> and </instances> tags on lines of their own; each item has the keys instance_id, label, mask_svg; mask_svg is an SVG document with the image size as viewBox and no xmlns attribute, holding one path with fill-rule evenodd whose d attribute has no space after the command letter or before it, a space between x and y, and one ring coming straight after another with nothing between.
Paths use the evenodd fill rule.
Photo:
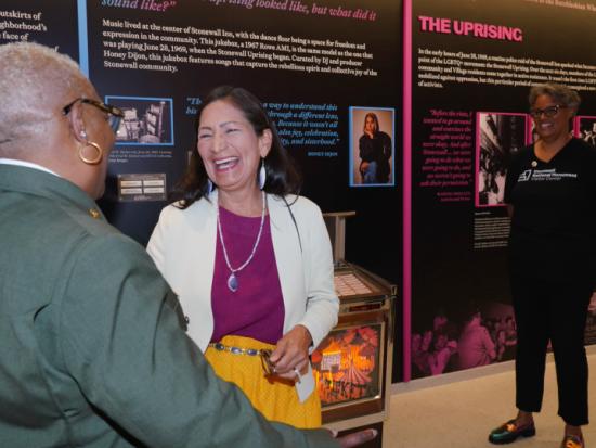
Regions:
<instances>
[{"instance_id":1,"label":"standing woman in black top and trousers wearing glasses","mask_svg":"<svg viewBox=\"0 0 596 448\"><path fill-rule=\"evenodd\" d=\"M507 444L535 434L546 347L552 342L565 421L561 448L583 448L587 419L584 330L596 285L596 151L571 136L578 93L545 84L530 90L539 140L521 151L507 172L511 216L509 271L517 322L518 414L489 440Z\"/></svg>"}]
</instances>

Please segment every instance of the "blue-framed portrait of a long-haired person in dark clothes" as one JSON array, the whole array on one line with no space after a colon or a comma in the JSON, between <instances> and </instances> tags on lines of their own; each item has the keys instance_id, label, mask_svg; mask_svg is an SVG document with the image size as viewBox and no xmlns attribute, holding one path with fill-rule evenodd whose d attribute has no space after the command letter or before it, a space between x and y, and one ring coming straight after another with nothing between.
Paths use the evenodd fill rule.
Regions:
<instances>
[{"instance_id":1,"label":"blue-framed portrait of a long-haired person in dark clothes","mask_svg":"<svg viewBox=\"0 0 596 448\"><path fill-rule=\"evenodd\" d=\"M394 110L350 107L349 123L350 185L394 185Z\"/></svg>"}]
</instances>

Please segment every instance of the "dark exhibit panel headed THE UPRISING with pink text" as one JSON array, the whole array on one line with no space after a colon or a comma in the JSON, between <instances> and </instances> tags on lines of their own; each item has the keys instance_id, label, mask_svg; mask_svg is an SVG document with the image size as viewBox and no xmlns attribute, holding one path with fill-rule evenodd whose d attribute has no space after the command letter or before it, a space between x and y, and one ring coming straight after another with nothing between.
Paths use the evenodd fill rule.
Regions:
<instances>
[{"instance_id":1,"label":"dark exhibit panel headed THE UPRISING with pink text","mask_svg":"<svg viewBox=\"0 0 596 448\"><path fill-rule=\"evenodd\" d=\"M531 85L566 84L583 98L580 115L596 115L591 51L596 3L470 0L454 8L417 0L412 5L411 367L416 377L513 357L504 176L510 156L530 142ZM465 321L475 311L492 340L482 350L493 348L495 356L470 361ZM588 322L592 333L593 327ZM440 364L429 366L428 355L441 350Z\"/></svg>"}]
</instances>

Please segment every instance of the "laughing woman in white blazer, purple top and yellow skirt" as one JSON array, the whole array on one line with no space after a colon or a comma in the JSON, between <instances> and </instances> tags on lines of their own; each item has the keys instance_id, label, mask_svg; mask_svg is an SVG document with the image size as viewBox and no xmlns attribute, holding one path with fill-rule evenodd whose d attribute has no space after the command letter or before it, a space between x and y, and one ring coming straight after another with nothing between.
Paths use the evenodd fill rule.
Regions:
<instances>
[{"instance_id":1,"label":"laughing woman in white blazer, purple top and yellow skirt","mask_svg":"<svg viewBox=\"0 0 596 448\"><path fill-rule=\"evenodd\" d=\"M242 88L198 112L182 200L147 251L179 295L189 334L269 420L321 425L309 353L337 322L331 243L275 125Z\"/></svg>"}]
</instances>

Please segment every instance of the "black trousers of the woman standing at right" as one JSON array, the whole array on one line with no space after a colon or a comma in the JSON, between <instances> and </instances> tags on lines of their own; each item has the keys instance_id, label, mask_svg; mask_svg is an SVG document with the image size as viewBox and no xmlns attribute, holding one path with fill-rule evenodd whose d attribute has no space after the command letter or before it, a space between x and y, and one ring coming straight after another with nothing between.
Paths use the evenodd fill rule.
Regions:
<instances>
[{"instance_id":1,"label":"black trousers of the woman standing at right","mask_svg":"<svg viewBox=\"0 0 596 448\"><path fill-rule=\"evenodd\" d=\"M517 323L517 408L540 411L546 348L550 341L559 389L558 414L570 425L587 424L584 331L592 283L513 274L511 294Z\"/></svg>"}]
</instances>

